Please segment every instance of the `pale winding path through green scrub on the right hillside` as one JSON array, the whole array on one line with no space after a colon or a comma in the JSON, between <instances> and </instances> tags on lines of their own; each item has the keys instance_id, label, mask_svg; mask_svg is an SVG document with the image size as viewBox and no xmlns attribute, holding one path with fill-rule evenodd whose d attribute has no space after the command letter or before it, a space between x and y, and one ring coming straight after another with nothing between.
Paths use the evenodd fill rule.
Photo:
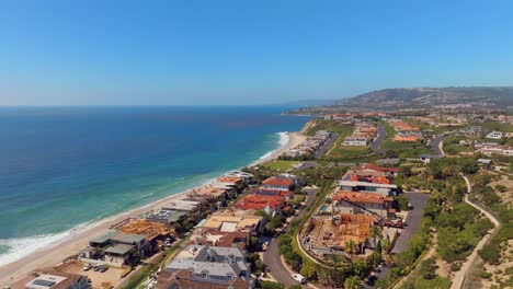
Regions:
<instances>
[{"instance_id":1,"label":"pale winding path through green scrub on the right hillside","mask_svg":"<svg viewBox=\"0 0 513 289\"><path fill-rule=\"evenodd\" d=\"M493 226L495 228L493 229L493 232L491 234L486 234L481 239L481 241L479 241L479 243L476 245L476 247L474 248L470 256L468 256L467 261L463 264L461 269L456 271L456 274L453 277L453 285L451 286L452 289L463 288L465 277L467 276L467 271L468 271L468 269L470 269L472 267L474 262L475 262L475 259L477 257L478 251L481 250L482 246L485 246L485 244L490 239L490 236L494 232L497 232L497 230L499 230L499 228L501 226L501 223L499 222L499 220L495 217L493 217L491 213L483 210L481 207L479 207L476 204L468 200L468 195L470 194L470 190L471 190L470 181L468 181L468 177L465 176L465 175L463 177L465 178L465 183L467 183L467 194L465 194L465 197L464 197L465 203L467 203L468 205L472 206L474 208L478 209L481 213L483 213L488 219L490 219L490 221L493 223Z\"/></svg>"}]
</instances>

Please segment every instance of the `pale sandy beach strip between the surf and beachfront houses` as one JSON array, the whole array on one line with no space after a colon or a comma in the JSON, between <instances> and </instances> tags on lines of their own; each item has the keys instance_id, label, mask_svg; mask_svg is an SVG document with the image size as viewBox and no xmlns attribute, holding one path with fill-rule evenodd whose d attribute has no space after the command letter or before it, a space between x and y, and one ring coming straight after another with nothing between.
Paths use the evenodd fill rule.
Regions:
<instances>
[{"instance_id":1,"label":"pale sandy beach strip between the surf and beachfront houses","mask_svg":"<svg viewBox=\"0 0 513 289\"><path fill-rule=\"evenodd\" d=\"M277 134L284 134L287 137L286 142L282 143L284 135L280 135L281 146L276 148L275 150L270 151L263 157L261 157L260 160L256 160L255 162L249 164L249 166L259 165L259 164L272 161L274 159L277 159L283 152L296 147L303 140L306 139L306 136L299 132L277 132ZM150 210L160 209L163 205L170 201L184 199L186 195L193 189L205 186L209 183L212 183L212 181L201 184L198 186L192 187L184 192L180 192L178 194L161 198L159 200L152 201L141 207L137 207L128 211L121 212L118 215L107 217L105 219L98 220L91 223L71 228L70 230L66 231L66 232L69 232L69 234L64 236L62 239L52 244L48 244L45 247L35 250L34 252L31 252L14 262L1 265L0 266L0 285L3 286L10 282L13 282L15 280L19 280L25 277L29 273L31 273L34 269L57 266L61 264L65 258L80 253L80 251L88 245L90 239L100 234L104 230L107 230L113 224L116 224L127 218L134 218L138 215L148 212ZM59 246L59 248L55 250L56 246Z\"/></svg>"}]
</instances>

